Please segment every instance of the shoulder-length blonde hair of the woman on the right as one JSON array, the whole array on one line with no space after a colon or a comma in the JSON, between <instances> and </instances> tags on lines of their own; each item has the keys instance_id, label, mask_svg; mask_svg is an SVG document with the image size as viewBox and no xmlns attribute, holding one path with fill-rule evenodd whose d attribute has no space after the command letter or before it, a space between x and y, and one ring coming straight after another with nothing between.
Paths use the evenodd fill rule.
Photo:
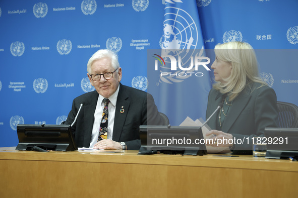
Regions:
<instances>
[{"instance_id":1,"label":"shoulder-length blonde hair of the woman on the right","mask_svg":"<svg viewBox=\"0 0 298 198\"><path fill-rule=\"evenodd\" d=\"M266 85L259 77L257 57L250 44L239 41L217 44L214 52L217 59L232 65L230 76L224 79L226 83L213 84L213 88L221 93L229 93L229 101L234 100L252 82Z\"/></svg>"}]
</instances>

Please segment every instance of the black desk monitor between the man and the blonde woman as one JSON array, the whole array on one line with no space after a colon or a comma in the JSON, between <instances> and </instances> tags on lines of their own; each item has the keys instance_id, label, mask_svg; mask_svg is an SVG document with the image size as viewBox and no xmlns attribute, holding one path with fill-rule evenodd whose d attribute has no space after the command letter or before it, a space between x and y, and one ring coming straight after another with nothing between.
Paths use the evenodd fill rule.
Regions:
<instances>
[{"instance_id":1,"label":"black desk monitor between the man and the blonde woman","mask_svg":"<svg viewBox=\"0 0 298 198\"><path fill-rule=\"evenodd\" d=\"M146 149L163 154L207 154L201 127L140 126L140 139L140 151Z\"/></svg>"}]
</instances>

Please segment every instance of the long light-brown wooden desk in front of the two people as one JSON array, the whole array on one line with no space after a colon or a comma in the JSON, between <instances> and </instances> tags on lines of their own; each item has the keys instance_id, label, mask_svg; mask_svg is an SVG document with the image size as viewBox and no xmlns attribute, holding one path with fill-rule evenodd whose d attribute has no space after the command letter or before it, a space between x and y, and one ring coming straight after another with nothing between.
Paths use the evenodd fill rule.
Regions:
<instances>
[{"instance_id":1,"label":"long light-brown wooden desk in front of the two people","mask_svg":"<svg viewBox=\"0 0 298 198\"><path fill-rule=\"evenodd\" d=\"M0 197L297 197L297 185L289 160L0 148Z\"/></svg>"}]
</instances>

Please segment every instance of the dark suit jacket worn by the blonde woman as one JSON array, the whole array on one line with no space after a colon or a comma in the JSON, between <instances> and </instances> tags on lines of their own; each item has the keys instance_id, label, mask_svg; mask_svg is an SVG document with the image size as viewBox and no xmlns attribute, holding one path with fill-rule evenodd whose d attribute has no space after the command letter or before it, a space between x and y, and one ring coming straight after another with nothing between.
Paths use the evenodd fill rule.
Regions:
<instances>
[{"instance_id":1,"label":"dark suit jacket worn by the blonde woman","mask_svg":"<svg viewBox=\"0 0 298 198\"><path fill-rule=\"evenodd\" d=\"M252 137L264 136L265 127L278 126L275 91L269 86L260 87L260 85L260 83L247 85L233 100L222 129L216 128L218 112L208 122L211 129L230 133L236 140L241 139L242 142L244 140L243 144L235 144L233 154L252 154ZM221 103L222 95L215 89L210 90L206 119Z\"/></svg>"}]
</instances>

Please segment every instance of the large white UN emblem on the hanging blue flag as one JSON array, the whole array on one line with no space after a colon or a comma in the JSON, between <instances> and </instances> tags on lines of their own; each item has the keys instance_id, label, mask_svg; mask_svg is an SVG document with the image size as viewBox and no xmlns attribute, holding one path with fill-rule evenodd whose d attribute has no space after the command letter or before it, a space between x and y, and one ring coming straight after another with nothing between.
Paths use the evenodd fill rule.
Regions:
<instances>
[{"instance_id":1,"label":"large white UN emblem on the hanging blue flag","mask_svg":"<svg viewBox=\"0 0 298 198\"><path fill-rule=\"evenodd\" d=\"M198 29L194 19L186 11L179 8L165 8L163 22L163 34L159 40L159 44L162 48L162 57L170 55L175 57L176 60L181 58L182 67L189 67L191 64L191 58L195 54L195 50L198 45ZM203 47L199 46L201 49ZM170 72L171 61L168 57L164 58L165 65L161 66L161 72ZM195 68L189 70L193 72ZM180 73L181 70L176 71ZM160 80L165 83L182 82L188 76L161 76Z\"/></svg>"}]
</instances>

